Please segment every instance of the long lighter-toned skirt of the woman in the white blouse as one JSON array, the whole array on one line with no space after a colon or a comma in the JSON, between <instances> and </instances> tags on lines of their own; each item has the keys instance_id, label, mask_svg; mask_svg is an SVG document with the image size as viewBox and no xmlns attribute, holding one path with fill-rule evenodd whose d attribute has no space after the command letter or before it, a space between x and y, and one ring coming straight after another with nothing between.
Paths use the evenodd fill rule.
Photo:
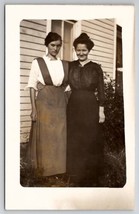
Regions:
<instances>
[{"instance_id":1,"label":"long lighter-toned skirt of the woman in the white blouse","mask_svg":"<svg viewBox=\"0 0 139 214\"><path fill-rule=\"evenodd\" d=\"M37 121L32 123L28 162L51 176L66 171L66 99L63 89L45 86L36 99Z\"/></svg>"}]
</instances>

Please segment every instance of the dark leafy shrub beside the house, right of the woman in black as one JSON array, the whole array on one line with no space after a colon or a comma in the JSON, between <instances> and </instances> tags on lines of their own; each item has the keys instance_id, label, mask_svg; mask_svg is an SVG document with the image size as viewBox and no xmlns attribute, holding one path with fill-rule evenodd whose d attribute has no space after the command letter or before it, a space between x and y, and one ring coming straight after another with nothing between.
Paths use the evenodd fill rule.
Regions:
<instances>
[{"instance_id":1,"label":"dark leafy shrub beside the house, right of the woman in black","mask_svg":"<svg viewBox=\"0 0 139 214\"><path fill-rule=\"evenodd\" d=\"M107 78L107 77L105 77ZM105 116L104 135L112 152L119 152L124 147L124 103L122 93L118 93L115 80L105 81Z\"/></svg>"}]
</instances>

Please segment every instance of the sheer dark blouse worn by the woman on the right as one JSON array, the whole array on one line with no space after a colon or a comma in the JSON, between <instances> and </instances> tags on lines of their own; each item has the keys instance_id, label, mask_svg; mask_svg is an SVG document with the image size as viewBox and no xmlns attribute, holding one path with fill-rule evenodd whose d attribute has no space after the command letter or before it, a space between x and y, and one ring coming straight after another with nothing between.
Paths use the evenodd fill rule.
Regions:
<instances>
[{"instance_id":1,"label":"sheer dark blouse worn by the woman on the right","mask_svg":"<svg viewBox=\"0 0 139 214\"><path fill-rule=\"evenodd\" d=\"M101 66L92 61L82 66L79 62L70 63L69 85L71 90L89 90L98 92L99 105L104 105L104 79Z\"/></svg>"}]
</instances>

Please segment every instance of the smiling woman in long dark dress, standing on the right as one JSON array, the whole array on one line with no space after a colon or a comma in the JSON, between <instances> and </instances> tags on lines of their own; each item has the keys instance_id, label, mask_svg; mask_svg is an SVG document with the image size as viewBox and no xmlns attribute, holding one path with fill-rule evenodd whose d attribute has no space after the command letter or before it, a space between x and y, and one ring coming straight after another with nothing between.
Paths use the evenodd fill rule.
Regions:
<instances>
[{"instance_id":1,"label":"smiling woman in long dark dress, standing on the right","mask_svg":"<svg viewBox=\"0 0 139 214\"><path fill-rule=\"evenodd\" d=\"M73 46L78 60L71 62L69 71L67 173L74 186L98 186L103 163L100 124L105 120L103 71L88 59L94 43L87 34L76 38Z\"/></svg>"}]
</instances>

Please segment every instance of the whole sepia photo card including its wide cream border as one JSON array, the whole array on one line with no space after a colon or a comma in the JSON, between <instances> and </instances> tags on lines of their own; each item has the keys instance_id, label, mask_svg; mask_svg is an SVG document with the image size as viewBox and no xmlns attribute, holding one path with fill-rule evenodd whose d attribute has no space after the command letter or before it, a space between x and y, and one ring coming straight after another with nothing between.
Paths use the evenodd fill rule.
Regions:
<instances>
[{"instance_id":1,"label":"whole sepia photo card including its wide cream border","mask_svg":"<svg viewBox=\"0 0 139 214\"><path fill-rule=\"evenodd\" d=\"M7 5L5 26L6 208L132 209L134 7Z\"/></svg>"}]
</instances>

